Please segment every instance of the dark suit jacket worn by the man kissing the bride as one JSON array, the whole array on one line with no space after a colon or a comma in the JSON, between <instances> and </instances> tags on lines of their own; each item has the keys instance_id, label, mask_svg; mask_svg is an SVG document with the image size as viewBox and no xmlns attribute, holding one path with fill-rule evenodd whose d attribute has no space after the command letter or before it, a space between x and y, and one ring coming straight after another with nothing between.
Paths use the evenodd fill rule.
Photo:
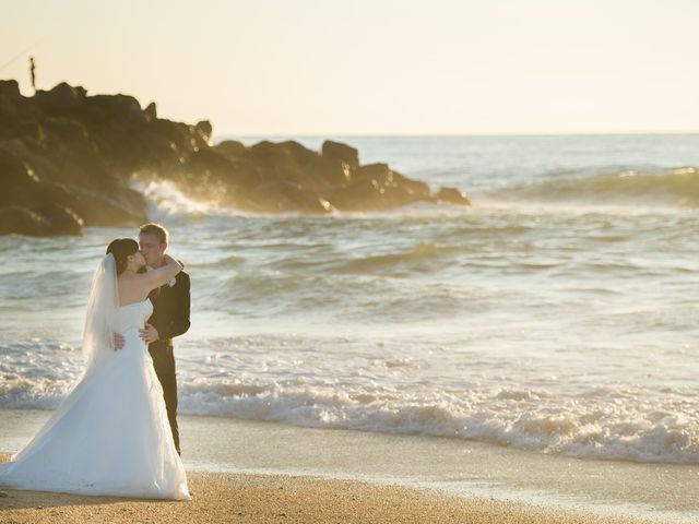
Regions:
<instances>
[{"instance_id":1,"label":"dark suit jacket worn by the man kissing the bride","mask_svg":"<svg viewBox=\"0 0 699 524\"><path fill-rule=\"evenodd\" d=\"M158 346L171 346L173 338L186 333L190 326L189 275L180 271L175 276L175 285L170 286L168 283L161 286L159 293L151 293L150 298L153 314L147 322L158 333L158 340L150 346L154 349Z\"/></svg>"}]
</instances>

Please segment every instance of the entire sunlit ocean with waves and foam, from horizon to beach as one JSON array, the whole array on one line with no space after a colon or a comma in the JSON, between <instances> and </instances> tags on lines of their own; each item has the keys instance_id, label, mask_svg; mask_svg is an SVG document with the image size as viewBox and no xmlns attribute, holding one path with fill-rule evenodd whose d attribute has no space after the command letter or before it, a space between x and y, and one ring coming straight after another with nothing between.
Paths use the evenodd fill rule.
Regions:
<instances>
[{"instance_id":1,"label":"entire sunlit ocean with waves and foam, from horizon to beach","mask_svg":"<svg viewBox=\"0 0 699 524\"><path fill-rule=\"evenodd\" d=\"M266 215L134 181L191 276L182 415L699 464L699 135L333 140L473 205ZM0 237L0 408L78 378L117 236Z\"/></svg>"}]
</instances>

